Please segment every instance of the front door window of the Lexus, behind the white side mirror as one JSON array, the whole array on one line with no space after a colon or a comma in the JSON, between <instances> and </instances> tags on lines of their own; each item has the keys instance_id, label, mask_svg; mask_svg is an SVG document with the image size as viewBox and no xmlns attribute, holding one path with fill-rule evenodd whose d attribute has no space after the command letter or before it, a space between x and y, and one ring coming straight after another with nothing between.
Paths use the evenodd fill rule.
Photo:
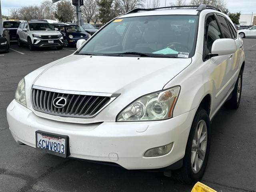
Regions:
<instances>
[{"instance_id":1,"label":"front door window of the Lexus, behind the white side mirror","mask_svg":"<svg viewBox=\"0 0 256 192\"><path fill-rule=\"evenodd\" d=\"M211 53L213 42L221 38L223 37L215 17L213 15L209 16L206 19L204 34L204 58L206 58L207 54Z\"/></svg>"}]
</instances>

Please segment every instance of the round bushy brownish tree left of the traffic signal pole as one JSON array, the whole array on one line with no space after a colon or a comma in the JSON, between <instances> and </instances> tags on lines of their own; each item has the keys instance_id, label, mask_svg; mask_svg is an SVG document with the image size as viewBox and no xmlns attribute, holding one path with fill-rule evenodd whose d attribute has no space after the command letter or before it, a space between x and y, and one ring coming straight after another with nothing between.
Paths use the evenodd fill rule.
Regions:
<instances>
[{"instance_id":1,"label":"round bushy brownish tree left of the traffic signal pole","mask_svg":"<svg viewBox=\"0 0 256 192\"><path fill-rule=\"evenodd\" d=\"M58 2L55 17L61 22L72 22L75 17L75 9L71 1L62 0Z\"/></svg>"}]
</instances>

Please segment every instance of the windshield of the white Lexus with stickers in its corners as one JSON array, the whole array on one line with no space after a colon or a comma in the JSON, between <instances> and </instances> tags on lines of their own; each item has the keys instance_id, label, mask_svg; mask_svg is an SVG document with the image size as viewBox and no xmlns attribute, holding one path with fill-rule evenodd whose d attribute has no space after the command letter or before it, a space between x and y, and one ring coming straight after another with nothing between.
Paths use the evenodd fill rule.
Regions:
<instances>
[{"instance_id":1,"label":"windshield of the white Lexus with stickers in its corners","mask_svg":"<svg viewBox=\"0 0 256 192\"><path fill-rule=\"evenodd\" d=\"M116 19L89 40L78 54L193 56L198 16L161 15ZM116 55L115 55L116 54Z\"/></svg>"}]
</instances>

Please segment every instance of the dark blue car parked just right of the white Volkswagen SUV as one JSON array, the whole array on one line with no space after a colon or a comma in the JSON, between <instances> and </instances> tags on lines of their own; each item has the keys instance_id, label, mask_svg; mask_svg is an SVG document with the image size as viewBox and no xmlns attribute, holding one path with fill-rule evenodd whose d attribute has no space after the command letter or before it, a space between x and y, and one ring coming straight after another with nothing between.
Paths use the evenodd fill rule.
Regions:
<instances>
[{"instance_id":1,"label":"dark blue car parked just right of the white Volkswagen SUV","mask_svg":"<svg viewBox=\"0 0 256 192\"><path fill-rule=\"evenodd\" d=\"M64 39L64 46L75 46L79 39L88 40L90 34L86 33L82 26L78 25L66 25L58 27Z\"/></svg>"}]
</instances>

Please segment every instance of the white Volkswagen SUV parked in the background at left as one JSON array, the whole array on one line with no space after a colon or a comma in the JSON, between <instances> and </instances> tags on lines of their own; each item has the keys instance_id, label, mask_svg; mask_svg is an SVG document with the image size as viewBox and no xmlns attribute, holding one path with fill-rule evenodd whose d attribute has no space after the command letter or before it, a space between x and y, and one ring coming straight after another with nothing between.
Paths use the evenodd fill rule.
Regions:
<instances>
[{"instance_id":1,"label":"white Volkswagen SUV parked in the background at left","mask_svg":"<svg viewBox=\"0 0 256 192\"><path fill-rule=\"evenodd\" d=\"M22 22L17 30L18 46L28 44L32 51L36 47L63 48L62 34L45 21Z\"/></svg>"}]
</instances>

